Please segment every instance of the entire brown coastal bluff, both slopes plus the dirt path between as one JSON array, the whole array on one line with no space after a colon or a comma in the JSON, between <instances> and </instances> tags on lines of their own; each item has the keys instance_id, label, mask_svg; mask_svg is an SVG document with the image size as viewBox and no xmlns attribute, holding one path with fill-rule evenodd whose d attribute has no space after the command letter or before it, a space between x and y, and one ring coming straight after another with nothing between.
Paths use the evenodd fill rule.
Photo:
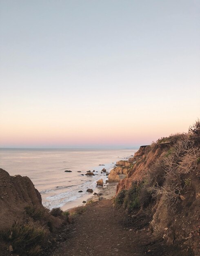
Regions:
<instances>
[{"instance_id":1,"label":"entire brown coastal bluff, both slopes plus the dirt path between","mask_svg":"<svg viewBox=\"0 0 200 256\"><path fill-rule=\"evenodd\" d=\"M63 213L42 206L28 177L0 169L0 255L200 255L199 121L188 133L141 146L108 177L113 188L118 181L113 200ZM68 214L70 228L55 238Z\"/></svg>"}]
</instances>

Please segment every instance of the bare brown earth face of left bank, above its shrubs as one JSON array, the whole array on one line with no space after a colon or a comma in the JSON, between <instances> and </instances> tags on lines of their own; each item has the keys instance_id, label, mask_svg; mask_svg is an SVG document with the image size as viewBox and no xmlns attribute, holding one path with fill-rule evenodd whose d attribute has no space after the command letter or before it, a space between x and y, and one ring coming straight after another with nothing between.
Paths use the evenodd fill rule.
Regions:
<instances>
[{"instance_id":1,"label":"bare brown earth face of left bank, above its shrubs","mask_svg":"<svg viewBox=\"0 0 200 256\"><path fill-rule=\"evenodd\" d=\"M28 177L10 176L0 168L0 230L9 229L14 222L28 218L24 210L27 206L47 211L46 218L54 227L61 225L62 220L51 216L43 207L41 195Z\"/></svg>"}]
</instances>

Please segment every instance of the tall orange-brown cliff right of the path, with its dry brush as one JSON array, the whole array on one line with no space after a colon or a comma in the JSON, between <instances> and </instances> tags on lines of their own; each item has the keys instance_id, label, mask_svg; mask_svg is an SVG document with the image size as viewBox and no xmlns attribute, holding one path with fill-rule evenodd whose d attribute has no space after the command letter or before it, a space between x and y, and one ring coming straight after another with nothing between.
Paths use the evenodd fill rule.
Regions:
<instances>
[{"instance_id":1,"label":"tall orange-brown cliff right of the path, with its dry brush","mask_svg":"<svg viewBox=\"0 0 200 256\"><path fill-rule=\"evenodd\" d=\"M131 216L130 222L148 220L164 245L179 244L187 255L200 254L199 122L193 127L187 134L141 146L127 161L127 177L119 181L115 199L116 206Z\"/></svg>"}]
</instances>

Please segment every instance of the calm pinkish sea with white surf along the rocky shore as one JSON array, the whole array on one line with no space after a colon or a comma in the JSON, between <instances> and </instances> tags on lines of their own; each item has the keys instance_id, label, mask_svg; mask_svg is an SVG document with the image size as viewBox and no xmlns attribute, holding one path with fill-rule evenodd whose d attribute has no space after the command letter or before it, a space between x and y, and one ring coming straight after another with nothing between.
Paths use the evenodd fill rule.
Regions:
<instances>
[{"instance_id":1,"label":"calm pinkish sea with white surf along the rocky shore","mask_svg":"<svg viewBox=\"0 0 200 256\"><path fill-rule=\"evenodd\" d=\"M0 167L10 175L28 176L49 209L62 207L82 197L87 188L95 189L96 181L107 176L120 159L129 158L136 150L102 149L0 149ZM104 166L100 165L104 164ZM64 172L72 171L71 173ZM95 170L95 176L82 176ZM78 173L81 171L81 173ZM82 193L78 191L82 190Z\"/></svg>"}]
</instances>

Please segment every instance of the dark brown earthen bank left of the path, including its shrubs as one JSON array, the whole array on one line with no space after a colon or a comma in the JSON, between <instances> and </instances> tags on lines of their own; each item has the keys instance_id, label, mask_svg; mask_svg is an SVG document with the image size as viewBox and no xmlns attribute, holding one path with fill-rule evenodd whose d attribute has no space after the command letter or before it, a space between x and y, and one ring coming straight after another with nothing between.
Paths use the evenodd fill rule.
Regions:
<instances>
[{"instance_id":1,"label":"dark brown earthen bank left of the path, including its shrubs","mask_svg":"<svg viewBox=\"0 0 200 256\"><path fill-rule=\"evenodd\" d=\"M28 177L0 168L0 256L39 255L67 217L49 211ZM49 241L49 243L51 243Z\"/></svg>"}]
</instances>

